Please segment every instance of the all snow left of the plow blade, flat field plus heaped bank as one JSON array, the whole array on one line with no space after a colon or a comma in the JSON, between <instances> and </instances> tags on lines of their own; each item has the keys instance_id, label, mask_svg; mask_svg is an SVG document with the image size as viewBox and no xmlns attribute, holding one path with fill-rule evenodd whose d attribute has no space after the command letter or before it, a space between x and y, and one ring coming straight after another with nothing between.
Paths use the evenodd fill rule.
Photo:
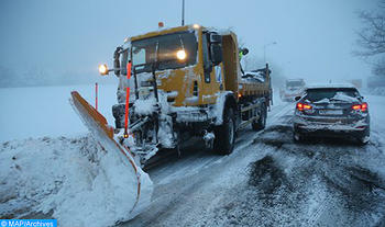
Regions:
<instances>
[{"instance_id":1,"label":"all snow left of the plow blade, flat field plus heaped bank","mask_svg":"<svg viewBox=\"0 0 385 227\"><path fill-rule=\"evenodd\" d=\"M150 203L147 174L90 137L68 102L70 90L90 103L95 99L92 87L1 90L1 139L12 140L0 146L0 218L54 217L61 226L111 226ZM99 97L99 110L111 122L107 110L114 101L108 98L116 97L114 89L99 91L108 92ZM36 138L43 135L51 136Z\"/></svg>"}]
</instances>

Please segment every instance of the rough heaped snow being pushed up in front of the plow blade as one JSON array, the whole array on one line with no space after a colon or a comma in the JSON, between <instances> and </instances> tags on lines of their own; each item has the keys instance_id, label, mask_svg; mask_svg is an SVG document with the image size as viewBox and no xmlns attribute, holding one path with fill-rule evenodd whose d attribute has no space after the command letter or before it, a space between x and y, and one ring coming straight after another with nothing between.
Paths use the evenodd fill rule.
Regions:
<instances>
[{"instance_id":1,"label":"rough heaped snow being pushed up in front of the plow blade","mask_svg":"<svg viewBox=\"0 0 385 227\"><path fill-rule=\"evenodd\" d=\"M0 146L0 218L57 218L59 226L111 226L151 201L152 183L90 137L13 140ZM143 180L146 179L146 180ZM134 208L135 207L135 208Z\"/></svg>"}]
</instances>

